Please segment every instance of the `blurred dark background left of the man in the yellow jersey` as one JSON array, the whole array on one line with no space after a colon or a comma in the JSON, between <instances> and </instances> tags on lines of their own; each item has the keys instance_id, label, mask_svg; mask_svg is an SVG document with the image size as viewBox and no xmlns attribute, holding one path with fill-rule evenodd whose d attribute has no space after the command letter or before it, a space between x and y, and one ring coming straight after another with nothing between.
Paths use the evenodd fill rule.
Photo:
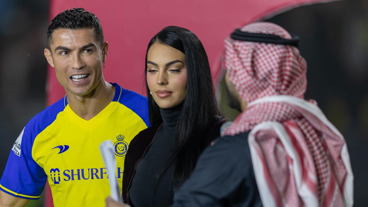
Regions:
<instances>
[{"instance_id":1,"label":"blurred dark background left of the man in the yellow jersey","mask_svg":"<svg viewBox=\"0 0 368 207\"><path fill-rule=\"evenodd\" d=\"M48 24L48 0L0 0L0 175L23 127L46 106Z\"/></svg>"}]
</instances>

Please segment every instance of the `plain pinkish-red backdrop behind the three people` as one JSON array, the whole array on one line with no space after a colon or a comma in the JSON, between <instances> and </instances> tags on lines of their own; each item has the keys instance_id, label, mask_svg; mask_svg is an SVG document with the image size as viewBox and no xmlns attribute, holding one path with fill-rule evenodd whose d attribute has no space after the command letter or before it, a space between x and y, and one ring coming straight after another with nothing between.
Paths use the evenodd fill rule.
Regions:
<instances>
[{"instance_id":1,"label":"plain pinkish-red backdrop behind the three people","mask_svg":"<svg viewBox=\"0 0 368 207\"><path fill-rule=\"evenodd\" d=\"M302 4L321 0L155 0L100 1L50 0L50 20L61 11L83 7L94 13L102 24L109 53L103 73L105 80L144 94L145 52L149 40L162 28L176 25L190 29L209 57L213 77L220 77L219 59L223 39L235 29L252 21L270 17ZM219 80L219 79L216 79ZM47 103L64 97L52 67L47 76ZM46 187L46 207L52 206Z\"/></svg>"}]
</instances>

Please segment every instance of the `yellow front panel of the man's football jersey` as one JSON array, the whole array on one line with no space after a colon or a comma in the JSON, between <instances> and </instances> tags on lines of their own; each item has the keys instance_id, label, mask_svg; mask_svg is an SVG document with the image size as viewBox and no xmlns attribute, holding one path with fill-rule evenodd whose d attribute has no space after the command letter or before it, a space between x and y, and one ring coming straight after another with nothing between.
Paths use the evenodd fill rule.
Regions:
<instances>
[{"instance_id":1,"label":"yellow front panel of the man's football jersey","mask_svg":"<svg viewBox=\"0 0 368 207\"><path fill-rule=\"evenodd\" d=\"M110 187L100 143L112 140L116 146L116 175L121 190L126 147L145 128L141 117L120 102L111 102L91 120L82 119L67 105L36 136L32 147L32 158L47 175L54 206L105 206ZM69 148L58 154L65 145Z\"/></svg>"}]
</instances>

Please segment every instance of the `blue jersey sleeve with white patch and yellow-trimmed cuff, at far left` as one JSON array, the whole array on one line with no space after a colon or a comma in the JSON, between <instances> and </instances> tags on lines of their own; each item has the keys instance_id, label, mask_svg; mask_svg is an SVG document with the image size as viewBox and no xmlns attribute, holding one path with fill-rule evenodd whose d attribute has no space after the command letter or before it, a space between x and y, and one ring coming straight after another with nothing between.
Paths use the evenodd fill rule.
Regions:
<instances>
[{"instance_id":1,"label":"blue jersey sleeve with white patch and yellow-trimmed cuff, at far left","mask_svg":"<svg viewBox=\"0 0 368 207\"><path fill-rule=\"evenodd\" d=\"M32 134L34 133L32 133L32 127L28 125L10 151L0 180L0 190L15 197L38 199L45 187L47 176L32 158Z\"/></svg>"}]
</instances>

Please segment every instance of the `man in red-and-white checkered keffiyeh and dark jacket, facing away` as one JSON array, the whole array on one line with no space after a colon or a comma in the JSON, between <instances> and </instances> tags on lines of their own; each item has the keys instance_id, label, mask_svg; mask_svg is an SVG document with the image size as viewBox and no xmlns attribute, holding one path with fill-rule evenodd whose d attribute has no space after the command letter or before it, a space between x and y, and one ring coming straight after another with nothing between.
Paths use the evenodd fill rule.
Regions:
<instances>
[{"instance_id":1,"label":"man in red-and-white checkered keffiyeh and dark jacket, facing away","mask_svg":"<svg viewBox=\"0 0 368 207\"><path fill-rule=\"evenodd\" d=\"M203 152L190 179L176 194L174 203L179 204L174 206L253 206L256 202L236 202L234 197L258 192L267 207L353 206L353 173L346 143L316 101L304 100L307 63L296 47L297 38L269 22L249 24L231 37L225 39L225 81L229 105L242 113ZM239 145L248 151L252 164L245 162L247 155L237 157ZM208 173L217 170L221 174L222 170L209 163L211 159L221 162L226 157L224 148L230 148L230 155L217 167L231 173L219 176L221 182L206 183L212 176ZM217 158L210 156L215 151ZM237 162L229 164L236 158ZM252 165L254 174L244 171L238 181L223 178L232 177L235 165ZM250 191L249 185L244 192L234 190L250 179L256 180L258 192ZM239 185L229 189L228 182ZM220 196L213 193L216 187ZM256 196L248 196L250 200Z\"/></svg>"}]
</instances>

